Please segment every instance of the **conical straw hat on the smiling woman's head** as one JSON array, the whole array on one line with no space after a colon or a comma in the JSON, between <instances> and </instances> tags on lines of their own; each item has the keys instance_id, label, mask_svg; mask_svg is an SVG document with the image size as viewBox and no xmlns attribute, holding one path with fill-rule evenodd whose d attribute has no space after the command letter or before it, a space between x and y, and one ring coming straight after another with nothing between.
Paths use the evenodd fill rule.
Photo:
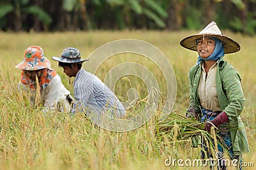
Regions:
<instances>
[{"instance_id":1,"label":"conical straw hat on the smiling woman's head","mask_svg":"<svg viewBox=\"0 0 256 170\"><path fill-rule=\"evenodd\" d=\"M180 45L184 48L188 48L189 50L197 51L196 39L209 36L218 38L222 41L224 53L235 53L240 50L240 45L234 41L234 39L224 36L214 21L208 24L201 32L199 32L199 34L182 39L182 41L180 41Z\"/></svg>"}]
</instances>

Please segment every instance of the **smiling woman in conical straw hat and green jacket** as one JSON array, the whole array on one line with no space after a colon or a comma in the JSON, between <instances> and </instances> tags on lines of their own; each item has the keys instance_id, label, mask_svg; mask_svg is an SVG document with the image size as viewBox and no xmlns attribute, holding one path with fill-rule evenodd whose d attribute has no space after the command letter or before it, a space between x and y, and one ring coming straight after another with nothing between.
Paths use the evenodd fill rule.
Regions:
<instances>
[{"instance_id":1,"label":"smiling woman in conical straw hat and green jacket","mask_svg":"<svg viewBox=\"0 0 256 170\"><path fill-rule=\"evenodd\" d=\"M248 152L248 139L240 114L244 108L241 76L224 60L225 53L235 53L240 45L224 36L216 22L212 21L199 34L188 36L180 45L198 52L196 65L189 69L189 108L187 117L205 122L205 131L217 130L219 136L217 153L218 169L226 169L224 150L232 160L241 162L242 153ZM226 128L224 127L226 125ZM202 140L202 159L212 153ZM216 155L217 156L217 155ZM222 161L221 161L222 160ZM237 164L241 168L240 163Z\"/></svg>"}]
</instances>

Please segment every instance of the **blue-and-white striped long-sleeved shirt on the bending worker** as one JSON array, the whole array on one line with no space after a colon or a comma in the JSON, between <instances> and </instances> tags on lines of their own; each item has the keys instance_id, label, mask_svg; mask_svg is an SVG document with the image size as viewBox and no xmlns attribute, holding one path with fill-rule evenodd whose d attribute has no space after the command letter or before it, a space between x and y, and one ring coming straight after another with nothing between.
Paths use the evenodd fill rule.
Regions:
<instances>
[{"instance_id":1,"label":"blue-and-white striped long-sleeved shirt on the bending worker","mask_svg":"<svg viewBox=\"0 0 256 170\"><path fill-rule=\"evenodd\" d=\"M112 117L124 117L125 109L115 94L97 76L81 69L74 80L74 95L76 102L74 110L88 113L106 113Z\"/></svg>"}]
</instances>

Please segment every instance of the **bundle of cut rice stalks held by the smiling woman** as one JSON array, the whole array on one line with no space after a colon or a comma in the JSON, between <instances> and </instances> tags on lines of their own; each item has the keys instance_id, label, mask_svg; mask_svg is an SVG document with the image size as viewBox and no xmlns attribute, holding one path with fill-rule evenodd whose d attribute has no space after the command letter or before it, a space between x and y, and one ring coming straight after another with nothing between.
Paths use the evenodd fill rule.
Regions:
<instances>
[{"instance_id":1,"label":"bundle of cut rice stalks held by the smiling woman","mask_svg":"<svg viewBox=\"0 0 256 170\"><path fill-rule=\"evenodd\" d=\"M173 147L177 143L192 142L197 136L200 140L198 145L202 145L209 153L218 152L218 145L227 148L221 136L217 134L218 130L215 131L212 127L211 132L207 132L204 131L204 127L205 123L200 123L195 118L187 118L172 112L163 122L156 122L155 136L159 143L167 137Z\"/></svg>"}]
</instances>

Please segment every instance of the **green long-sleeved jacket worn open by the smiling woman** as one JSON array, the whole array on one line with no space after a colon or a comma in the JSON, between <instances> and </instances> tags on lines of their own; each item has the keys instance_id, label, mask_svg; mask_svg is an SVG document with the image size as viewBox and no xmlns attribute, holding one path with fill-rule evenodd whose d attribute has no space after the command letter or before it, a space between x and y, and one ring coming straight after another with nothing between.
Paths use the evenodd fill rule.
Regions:
<instances>
[{"instance_id":1,"label":"green long-sleeved jacket worn open by the smiling woman","mask_svg":"<svg viewBox=\"0 0 256 170\"><path fill-rule=\"evenodd\" d=\"M195 108L198 113L201 113L200 99L198 96L200 74L200 65L195 65L189 70L189 108ZM241 87L241 76L223 57L218 60L217 64L216 88L221 110L227 113L228 119L230 120L228 124L230 125L229 130L234 154L241 155L244 152L249 152L248 139L244 124L240 118L245 101Z\"/></svg>"}]
</instances>

